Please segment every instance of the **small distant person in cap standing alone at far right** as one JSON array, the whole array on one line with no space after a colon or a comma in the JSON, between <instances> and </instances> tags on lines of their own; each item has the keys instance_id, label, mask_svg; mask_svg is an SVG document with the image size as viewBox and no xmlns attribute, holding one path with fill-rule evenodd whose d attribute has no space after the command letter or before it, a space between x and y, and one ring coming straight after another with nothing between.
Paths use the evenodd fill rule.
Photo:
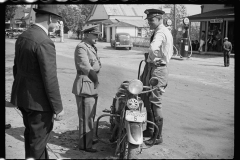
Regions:
<instances>
[{"instance_id":1,"label":"small distant person in cap standing alone at far right","mask_svg":"<svg viewBox=\"0 0 240 160\"><path fill-rule=\"evenodd\" d=\"M228 67L230 65L229 59L230 59L230 53L232 51L232 43L228 41L228 38L224 38L223 43L223 59L224 59L224 66Z\"/></svg>"}]
</instances>

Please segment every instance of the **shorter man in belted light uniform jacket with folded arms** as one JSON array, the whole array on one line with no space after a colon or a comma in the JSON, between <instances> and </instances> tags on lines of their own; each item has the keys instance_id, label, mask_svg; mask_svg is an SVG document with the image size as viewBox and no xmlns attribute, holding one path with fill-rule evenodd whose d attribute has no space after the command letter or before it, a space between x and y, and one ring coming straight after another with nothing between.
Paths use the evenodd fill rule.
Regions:
<instances>
[{"instance_id":1,"label":"shorter man in belted light uniform jacket with folded arms","mask_svg":"<svg viewBox=\"0 0 240 160\"><path fill-rule=\"evenodd\" d=\"M96 114L98 98L98 75L101 63L94 46L101 33L97 27L83 31L84 39L77 45L74 53L77 70L72 93L75 94L79 117L79 149L87 152L97 152L92 145L93 122Z\"/></svg>"}]
</instances>

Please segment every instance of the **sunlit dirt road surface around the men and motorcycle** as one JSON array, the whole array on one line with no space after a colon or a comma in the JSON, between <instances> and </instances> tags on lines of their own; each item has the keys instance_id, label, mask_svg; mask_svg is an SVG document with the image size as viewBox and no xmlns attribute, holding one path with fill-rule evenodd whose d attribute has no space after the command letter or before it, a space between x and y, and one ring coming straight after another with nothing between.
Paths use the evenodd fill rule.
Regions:
<instances>
[{"instance_id":1,"label":"sunlit dirt road surface around the men and motorcycle","mask_svg":"<svg viewBox=\"0 0 240 160\"><path fill-rule=\"evenodd\" d=\"M6 41L6 94L10 93L11 66L15 40ZM58 131L72 130L77 133L77 114L72 84L76 76L73 53L77 40L66 39L65 43L55 42L57 51L57 67L65 120L55 123L54 135ZM146 49L114 50L108 43L98 43L98 54L101 57L102 69L99 74L100 88L97 116L102 110L109 108L112 97L120 83L137 78L139 62ZM232 158L234 149L234 59L230 67L223 66L223 58L218 56L193 55L188 60L173 58L168 66L169 84L164 94L164 143L145 150L141 158ZM7 122L14 123L8 113ZM107 121L107 119L104 119ZM104 121L103 120L103 121ZM20 125L18 123L18 125ZM13 124L13 128L17 124ZM12 139L14 131L7 130L8 139ZM104 132L104 130L102 130ZM107 131L105 131L107 132ZM58 135L59 136L59 135ZM15 137L16 138L16 137ZM14 139L14 138L13 138ZM22 138L16 138L22 140ZM56 140L56 139L55 139ZM21 143L22 144L22 143ZM224 145L223 145L224 144ZM52 141L51 148L57 146L68 148L58 152L63 158L79 158L79 152L71 146ZM101 156L112 155L113 148L98 144L103 148ZM8 158L21 158L12 154L13 148L7 147ZM54 150L55 151L55 150ZM14 151L15 152L15 151ZM23 153L22 153L23 154ZM55 155L51 154L52 158ZM91 158L90 155L82 158ZM24 158L24 157L22 157Z\"/></svg>"}]
</instances>

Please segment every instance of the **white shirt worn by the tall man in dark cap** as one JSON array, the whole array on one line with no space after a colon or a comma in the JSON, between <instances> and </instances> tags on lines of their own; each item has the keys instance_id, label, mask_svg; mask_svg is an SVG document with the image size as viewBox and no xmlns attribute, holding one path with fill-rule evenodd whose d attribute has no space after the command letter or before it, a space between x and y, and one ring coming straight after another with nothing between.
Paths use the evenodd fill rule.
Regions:
<instances>
[{"instance_id":1,"label":"white shirt worn by the tall man in dark cap","mask_svg":"<svg viewBox=\"0 0 240 160\"><path fill-rule=\"evenodd\" d=\"M157 58L161 58L163 63L169 63L173 55L173 37L171 32L163 24L159 25L154 31L153 40L150 43L150 51L147 62L153 62ZM157 51L158 53L156 53Z\"/></svg>"}]
</instances>

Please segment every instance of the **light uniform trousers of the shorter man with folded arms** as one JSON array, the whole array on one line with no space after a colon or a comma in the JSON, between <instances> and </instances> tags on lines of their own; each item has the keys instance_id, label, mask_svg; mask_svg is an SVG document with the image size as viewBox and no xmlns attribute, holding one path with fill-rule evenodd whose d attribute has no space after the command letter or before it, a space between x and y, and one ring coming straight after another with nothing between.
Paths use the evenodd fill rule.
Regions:
<instances>
[{"instance_id":1,"label":"light uniform trousers of the shorter man with folded arms","mask_svg":"<svg viewBox=\"0 0 240 160\"><path fill-rule=\"evenodd\" d=\"M77 96L76 102L79 117L79 149L92 148L94 118L96 115L97 97Z\"/></svg>"}]
</instances>

